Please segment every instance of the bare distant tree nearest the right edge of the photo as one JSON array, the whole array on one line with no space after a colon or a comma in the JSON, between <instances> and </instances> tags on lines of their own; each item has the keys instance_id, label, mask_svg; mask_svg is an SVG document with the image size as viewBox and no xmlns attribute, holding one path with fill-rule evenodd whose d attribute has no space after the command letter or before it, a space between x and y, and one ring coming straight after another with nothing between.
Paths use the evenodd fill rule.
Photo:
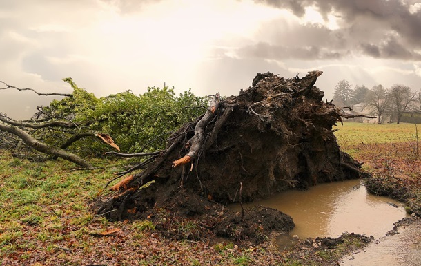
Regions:
<instances>
[{"instance_id":1,"label":"bare distant tree nearest the right edge of the photo","mask_svg":"<svg viewBox=\"0 0 421 266\"><path fill-rule=\"evenodd\" d=\"M399 124L404 112L415 107L417 93L411 91L408 86L395 84L389 89L388 94L391 101L391 111L396 114L396 124Z\"/></svg>"}]
</instances>

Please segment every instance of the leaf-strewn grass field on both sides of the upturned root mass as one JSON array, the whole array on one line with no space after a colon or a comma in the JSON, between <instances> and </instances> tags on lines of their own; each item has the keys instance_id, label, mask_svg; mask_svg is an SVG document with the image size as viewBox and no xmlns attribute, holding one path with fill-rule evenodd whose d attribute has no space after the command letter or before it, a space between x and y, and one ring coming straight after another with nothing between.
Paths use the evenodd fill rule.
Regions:
<instances>
[{"instance_id":1,"label":"leaf-strewn grass field on both sides of the upturned root mass","mask_svg":"<svg viewBox=\"0 0 421 266\"><path fill-rule=\"evenodd\" d=\"M346 122L337 129L342 149L364 160L368 170L393 168L399 173L395 180L400 175L421 179L413 124ZM93 164L103 168L73 171L75 165L67 161L30 162L0 150L0 265L303 265L269 244L174 241L159 236L148 220L111 222L95 216L89 204L112 173L123 169L115 161ZM190 228L180 224L174 233Z\"/></svg>"}]
</instances>

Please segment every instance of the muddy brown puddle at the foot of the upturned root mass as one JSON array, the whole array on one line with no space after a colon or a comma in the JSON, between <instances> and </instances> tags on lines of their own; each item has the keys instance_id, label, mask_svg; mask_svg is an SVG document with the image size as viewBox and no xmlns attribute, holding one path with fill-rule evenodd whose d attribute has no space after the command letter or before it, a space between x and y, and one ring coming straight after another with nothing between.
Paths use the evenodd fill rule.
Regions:
<instances>
[{"instance_id":1,"label":"muddy brown puddle at the foot of the upturned root mass","mask_svg":"<svg viewBox=\"0 0 421 266\"><path fill-rule=\"evenodd\" d=\"M291 236L300 238L337 238L343 232L380 238L393 229L393 223L408 217L404 205L390 198L366 192L361 180L319 184L307 191L285 191L266 200L244 207L263 205L292 216L295 227L288 236L280 236L278 244L287 249ZM231 205L240 209L239 205Z\"/></svg>"}]
</instances>

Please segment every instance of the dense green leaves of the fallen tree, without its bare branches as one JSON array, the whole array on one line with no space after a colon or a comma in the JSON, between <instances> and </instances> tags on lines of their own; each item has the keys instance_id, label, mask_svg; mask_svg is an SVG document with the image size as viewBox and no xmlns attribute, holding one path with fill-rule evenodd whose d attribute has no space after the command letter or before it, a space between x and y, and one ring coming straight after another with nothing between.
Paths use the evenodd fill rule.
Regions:
<instances>
[{"instance_id":1,"label":"dense green leaves of the fallen tree, without its bare branches","mask_svg":"<svg viewBox=\"0 0 421 266\"><path fill-rule=\"evenodd\" d=\"M137 153L163 149L170 133L202 114L204 97L190 90L176 95L174 88L150 87L143 95L131 91L97 98L79 88L71 78L63 79L72 86L72 97L54 100L42 109L43 117L66 119L77 129L42 129L37 137L60 146L72 135L82 132L101 132L111 135L121 151ZM47 132L48 131L48 132ZM75 142L71 151L99 154L108 147L92 139Z\"/></svg>"}]
</instances>

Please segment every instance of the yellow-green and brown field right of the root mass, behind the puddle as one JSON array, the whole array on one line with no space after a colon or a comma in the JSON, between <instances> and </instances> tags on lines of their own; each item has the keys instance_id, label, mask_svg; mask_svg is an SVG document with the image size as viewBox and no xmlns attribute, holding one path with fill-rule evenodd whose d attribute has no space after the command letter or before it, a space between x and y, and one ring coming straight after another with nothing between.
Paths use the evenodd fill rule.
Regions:
<instances>
[{"instance_id":1,"label":"yellow-green and brown field right of the root mass, behind the puddle","mask_svg":"<svg viewBox=\"0 0 421 266\"><path fill-rule=\"evenodd\" d=\"M335 135L340 149L373 175L369 181L380 194L405 202L409 213L421 215L421 147L416 128L406 123L345 122L336 127Z\"/></svg>"}]
</instances>

